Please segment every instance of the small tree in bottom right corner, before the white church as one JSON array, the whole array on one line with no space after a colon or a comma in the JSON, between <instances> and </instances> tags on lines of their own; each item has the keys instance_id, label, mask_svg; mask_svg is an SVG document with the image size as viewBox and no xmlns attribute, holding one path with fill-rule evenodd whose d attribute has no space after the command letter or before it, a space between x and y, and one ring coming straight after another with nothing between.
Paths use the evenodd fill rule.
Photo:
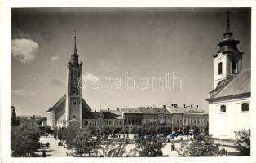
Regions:
<instances>
[{"instance_id":1,"label":"small tree in bottom right corner, before the white church","mask_svg":"<svg viewBox=\"0 0 256 163\"><path fill-rule=\"evenodd\" d=\"M240 156L250 156L250 130L235 131L235 148L240 151Z\"/></svg>"}]
</instances>

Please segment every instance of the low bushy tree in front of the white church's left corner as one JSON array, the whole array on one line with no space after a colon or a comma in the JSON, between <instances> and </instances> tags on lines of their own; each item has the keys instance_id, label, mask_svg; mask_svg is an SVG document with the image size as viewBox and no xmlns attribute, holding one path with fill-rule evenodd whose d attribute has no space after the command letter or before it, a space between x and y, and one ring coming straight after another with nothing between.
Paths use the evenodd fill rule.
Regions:
<instances>
[{"instance_id":1,"label":"low bushy tree in front of the white church's left corner","mask_svg":"<svg viewBox=\"0 0 256 163\"><path fill-rule=\"evenodd\" d=\"M195 135L194 141L182 148L179 156L224 156L227 152L219 150L219 144L214 144L214 139L209 134Z\"/></svg>"}]
</instances>

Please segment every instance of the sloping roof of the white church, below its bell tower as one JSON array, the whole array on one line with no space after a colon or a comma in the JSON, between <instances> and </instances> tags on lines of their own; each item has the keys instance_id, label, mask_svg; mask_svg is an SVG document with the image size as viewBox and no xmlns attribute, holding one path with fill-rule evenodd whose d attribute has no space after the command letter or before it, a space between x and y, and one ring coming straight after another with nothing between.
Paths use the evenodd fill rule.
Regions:
<instances>
[{"instance_id":1,"label":"sloping roof of the white church, below its bell tower","mask_svg":"<svg viewBox=\"0 0 256 163\"><path fill-rule=\"evenodd\" d=\"M241 71L241 73L238 73L236 77L233 77L231 81L227 82L225 86L222 86L216 94L211 95L207 100L250 93L250 74L250 69Z\"/></svg>"}]
</instances>

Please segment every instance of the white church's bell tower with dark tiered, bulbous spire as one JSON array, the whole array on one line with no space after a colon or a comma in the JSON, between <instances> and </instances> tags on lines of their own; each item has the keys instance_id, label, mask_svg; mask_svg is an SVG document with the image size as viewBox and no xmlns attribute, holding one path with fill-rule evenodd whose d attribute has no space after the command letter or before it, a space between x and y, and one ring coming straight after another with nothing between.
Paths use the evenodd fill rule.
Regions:
<instances>
[{"instance_id":1,"label":"white church's bell tower with dark tiered, bulbous spire","mask_svg":"<svg viewBox=\"0 0 256 163\"><path fill-rule=\"evenodd\" d=\"M219 50L214 55L214 88L220 81L236 76L242 69L243 52L236 47L240 41L233 37L229 15L230 12L227 11L227 29L223 34L223 40L218 43Z\"/></svg>"}]
</instances>

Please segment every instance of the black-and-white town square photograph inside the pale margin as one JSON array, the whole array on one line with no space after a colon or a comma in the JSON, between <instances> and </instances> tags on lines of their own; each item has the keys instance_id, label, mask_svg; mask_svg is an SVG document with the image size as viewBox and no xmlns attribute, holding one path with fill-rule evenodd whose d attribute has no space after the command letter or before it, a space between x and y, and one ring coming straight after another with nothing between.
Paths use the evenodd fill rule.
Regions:
<instances>
[{"instance_id":1,"label":"black-and-white town square photograph inside the pale margin","mask_svg":"<svg viewBox=\"0 0 256 163\"><path fill-rule=\"evenodd\" d=\"M11 159L254 155L251 7L10 13Z\"/></svg>"}]
</instances>

